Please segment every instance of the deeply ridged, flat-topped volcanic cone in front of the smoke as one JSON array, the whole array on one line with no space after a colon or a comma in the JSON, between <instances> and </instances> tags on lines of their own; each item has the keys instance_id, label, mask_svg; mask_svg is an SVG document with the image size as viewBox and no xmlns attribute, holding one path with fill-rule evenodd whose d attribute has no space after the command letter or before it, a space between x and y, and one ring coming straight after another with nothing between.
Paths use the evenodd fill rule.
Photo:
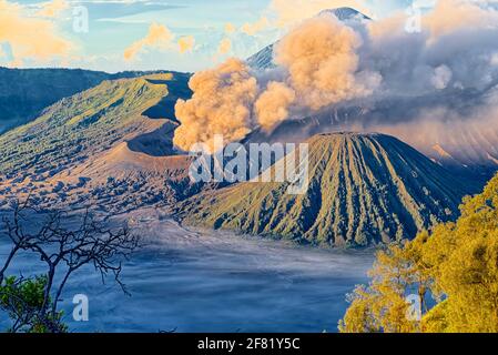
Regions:
<instances>
[{"instance_id":1,"label":"deeply ridged, flat-topped volcanic cone in front of the smoke","mask_svg":"<svg viewBox=\"0 0 498 355\"><path fill-rule=\"evenodd\" d=\"M331 133L309 141L309 189L241 183L182 204L186 224L319 245L370 245L456 219L472 189L397 139Z\"/></svg>"}]
</instances>

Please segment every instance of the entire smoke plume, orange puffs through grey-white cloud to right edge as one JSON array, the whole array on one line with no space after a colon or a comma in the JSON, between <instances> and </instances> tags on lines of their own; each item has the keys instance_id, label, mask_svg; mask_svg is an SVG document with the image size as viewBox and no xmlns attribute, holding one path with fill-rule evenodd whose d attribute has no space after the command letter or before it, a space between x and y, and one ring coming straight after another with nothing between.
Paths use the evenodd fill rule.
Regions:
<instances>
[{"instance_id":1,"label":"entire smoke plume, orange puffs through grey-white cloud to right edge","mask_svg":"<svg viewBox=\"0 0 498 355\"><path fill-rule=\"evenodd\" d=\"M416 146L428 144L417 136L439 143L471 123L491 124L485 141L498 143L498 12L486 1L439 0L419 19L419 31L406 30L411 20L398 13L341 22L323 14L280 41L274 69L231 59L196 73L194 97L176 105L175 144L190 150L214 134L237 141L258 126L271 132L285 120L358 106L372 114L354 126L398 133Z\"/></svg>"}]
</instances>

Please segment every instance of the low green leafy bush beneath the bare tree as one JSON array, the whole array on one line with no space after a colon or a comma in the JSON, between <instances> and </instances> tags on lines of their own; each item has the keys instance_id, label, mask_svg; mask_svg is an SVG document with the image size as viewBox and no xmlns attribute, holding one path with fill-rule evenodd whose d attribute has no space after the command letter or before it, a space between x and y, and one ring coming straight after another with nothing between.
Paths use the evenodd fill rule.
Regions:
<instances>
[{"instance_id":1,"label":"low green leafy bush beneath the bare tree","mask_svg":"<svg viewBox=\"0 0 498 355\"><path fill-rule=\"evenodd\" d=\"M9 332L26 333L64 333L68 327L62 324L63 312L51 314L47 308L52 301L45 304L44 293L47 276L33 278L6 277L0 285L0 310L8 313L14 325Z\"/></svg>"}]
</instances>

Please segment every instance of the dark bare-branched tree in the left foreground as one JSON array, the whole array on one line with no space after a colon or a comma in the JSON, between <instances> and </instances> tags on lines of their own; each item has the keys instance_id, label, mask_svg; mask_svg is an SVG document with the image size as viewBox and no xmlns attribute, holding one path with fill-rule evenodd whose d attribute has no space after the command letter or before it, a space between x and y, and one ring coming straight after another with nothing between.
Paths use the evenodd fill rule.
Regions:
<instances>
[{"instance_id":1,"label":"dark bare-branched tree in the left foreground","mask_svg":"<svg viewBox=\"0 0 498 355\"><path fill-rule=\"evenodd\" d=\"M59 301L68 280L85 265L93 265L102 282L106 275L112 275L128 294L120 277L122 262L140 246L139 236L128 226L105 227L88 210L80 216L70 216L63 211L43 212L29 199L16 203L12 215L4 217L3 223L4 231L0 233L13 246L0 270L0 308L12 318L12 332L32 331L33 323L41 324L47 332L63 331ZM47 273L35 280L6 277L20 252L34 253L47 266ZM42 288L40 301L26 302L19 293L23 285Z\"/></svg>"}]
</instances>

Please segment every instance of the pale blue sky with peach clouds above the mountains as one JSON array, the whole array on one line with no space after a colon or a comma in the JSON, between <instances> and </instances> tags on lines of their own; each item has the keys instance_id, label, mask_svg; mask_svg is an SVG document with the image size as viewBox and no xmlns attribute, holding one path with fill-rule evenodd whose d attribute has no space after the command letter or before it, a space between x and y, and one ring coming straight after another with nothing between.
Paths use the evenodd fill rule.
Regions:
<instances>
[{"instance_id":1,"label":"pale blue sky with peach clouds above the mountains","mask_svg":"<svg viewBox=\"0 0 498 355\"><path fill-rule=\"evenodd\" d=\"M0 0L0 65L194 72L342 6L383 18L411 0Z\"/></svg>"}]
</instances>

